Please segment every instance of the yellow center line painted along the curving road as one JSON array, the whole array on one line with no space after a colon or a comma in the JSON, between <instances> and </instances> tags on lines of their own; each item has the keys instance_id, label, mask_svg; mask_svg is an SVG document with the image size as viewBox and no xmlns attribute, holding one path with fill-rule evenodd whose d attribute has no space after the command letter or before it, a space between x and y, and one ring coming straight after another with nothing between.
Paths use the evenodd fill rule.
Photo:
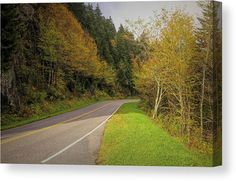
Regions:
<instances>
[{"instance_id":1,"label":"yellow center line painted along the curving road","mask_svg":"<svg viewBox=\"0 0 236 181\"><path fill-rule=\"evenodd\" d=\"M86 112L86 113L81 114L81 115L79 115L79 116L73 117L73 118L71 118L71 119L62 121L62 122L60 122L60 123L57 123L57 124L54 124L54 125L51 125L51 126L48 126L48 127L44 127L44 128L37 129L37 130L33 130L33 131L28 131L26 134L21 134L21 135L19 135L19 136L15 136L15 137L12 137L12 138L5 138L5 139L3 139L3 140L1 141L1 145L2 145L2 144L5 144L5 143L12 142L12 141L15 141L15 140L18 140L18 139L20 139L20 138L24 138L24 137L26 137L26 136L30 136L30 135L33 135L33 134L36 134L36 133L39 133L39 132L48 130L48 129L50 129L50 128L57 127L57 126L59 126L59 125L61 125L61 124L64 124L64 123L67 123L67 122L70 122L70 121L74 121L74 120L79 119L79 118L81 118L81 117L84 117L84 116L86 116L86 115L88 115L88 114L90 114L90 113L96 112L96 111L98 111L98 110L100 110L100 109L102 109L102 108L104 108L104 107L106 107L106 106L108 106L108 105L110 105L110 104L111 104L111 103L108 103L108 104L106 104L106 105L104 105L104 106L102 106L102 107L99 107L99 108L94 109L94 110L92 110L92 111Z\"/></svg>"}]
</instances>

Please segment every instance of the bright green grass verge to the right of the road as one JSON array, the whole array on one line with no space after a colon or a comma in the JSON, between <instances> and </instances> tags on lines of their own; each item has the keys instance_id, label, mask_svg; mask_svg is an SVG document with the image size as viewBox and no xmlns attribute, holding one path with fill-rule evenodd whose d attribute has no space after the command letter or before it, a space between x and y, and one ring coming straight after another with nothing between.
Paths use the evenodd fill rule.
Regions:
<instances>
[{"instance_id":1,"label":"bright green grass verge to the right of the road","mask_svg":"<svg viewBox=\"0 0 236 181\"><path fill-rule=\"evenodd\" d=\"M212 166L212 156L189 150L158 127L137 103L127 103L106 125L97 164Z\"/></svg>"}]
</instances>

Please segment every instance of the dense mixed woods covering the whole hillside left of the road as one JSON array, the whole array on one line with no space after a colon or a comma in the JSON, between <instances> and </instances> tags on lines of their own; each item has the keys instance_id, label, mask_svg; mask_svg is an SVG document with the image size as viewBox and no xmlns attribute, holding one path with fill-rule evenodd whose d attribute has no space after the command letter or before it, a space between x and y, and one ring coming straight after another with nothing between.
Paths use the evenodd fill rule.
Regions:
<instances>
[{"instance_id":1,"label":"dense mixed woods covering the whole hillside left of the road","mask_svg":"<svg viewBox=\"0 0 236 181\"><path fill-rule=\"evenodd\" d=\"M90 4L3 5L3 113L71 96L133 94L131 41Z\"/></svg>"}]
</instances>

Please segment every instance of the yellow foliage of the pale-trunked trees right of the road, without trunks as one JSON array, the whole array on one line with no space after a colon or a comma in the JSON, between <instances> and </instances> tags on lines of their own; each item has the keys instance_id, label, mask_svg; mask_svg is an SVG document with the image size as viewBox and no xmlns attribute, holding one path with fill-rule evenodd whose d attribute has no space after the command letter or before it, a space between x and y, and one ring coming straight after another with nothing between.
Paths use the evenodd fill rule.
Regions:
<instances>
[{"instance_id":1,"label":"yellow foliage of the pale-trunked trees right of the road, without trunks","mask_svg":"<svg viewBox=\"0 0 236 181\"><path fill-rule=\"evenodd\" d=\"M196 40L193 34L193 20L181 11L163 14L155 20L159 35L152 39L149 59L133 64L136 69L135 85L142 96L154 104L156 88L161 86L166 94L186 94L189 67L193 60ZM160 28L159 24L163 26ZM176 97L173 97L174 99Z\"/></svg>"}]
</instances>

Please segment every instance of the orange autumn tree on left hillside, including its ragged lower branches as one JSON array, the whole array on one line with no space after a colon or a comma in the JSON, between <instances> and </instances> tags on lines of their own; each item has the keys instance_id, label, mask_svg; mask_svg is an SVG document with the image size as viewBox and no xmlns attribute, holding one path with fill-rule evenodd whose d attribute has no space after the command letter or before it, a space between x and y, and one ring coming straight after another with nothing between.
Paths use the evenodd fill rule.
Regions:
<instances>
[{"instance_id":1,"label":"orange autumn tree on left hillside, including its ragged lower branches","mask_svg":"<svg viewBox=\"0 0 236 181\"><path fill-rule=\"evenodd\" d=\"M95 42L83 31L74 15L68 11L66 6L59 4L47 6L46 11L45 14L54 18L55 28L59 32L60 40L63 41L62 43L56 43L57 46L61 45L62 47L62 50L57 55L61 57L62 63L67 66L66 69L73 70L72 72L70 71L72 79L68 78L68 74L66 75L67 79L71 80L68 84L73 84L72 87L76 88L79 83L84 89L87 81L91 85L98 84L101 80L103 80L103 83L110 83L111 81L107 80L112 78L112 70L107 67L104 61L97 57ZM94 87L96 88L97 85L94 85ZM91 86L91 88L94 87ZM72 89L75 91L74 88ZM90 91L93 90L91 89Z\"/></svg>"}]
</instances>

